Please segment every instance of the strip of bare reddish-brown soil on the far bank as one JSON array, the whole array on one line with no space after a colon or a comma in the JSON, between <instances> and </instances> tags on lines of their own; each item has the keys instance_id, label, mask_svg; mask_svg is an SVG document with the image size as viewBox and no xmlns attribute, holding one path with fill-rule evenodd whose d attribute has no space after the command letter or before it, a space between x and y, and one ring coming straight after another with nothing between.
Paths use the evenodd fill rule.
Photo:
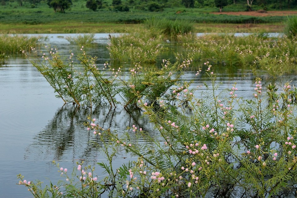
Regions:
<instances>
[{"instance_id":1,"label":"strip of bare reddish-brown soil on the far bank","mask_svg":"<svg viewBox=\"0 0 297 198\"><path fill-rule=\"evenodd\" d=\"M297 11L267 11L266 13L251 11L251 12L212 12L214 15L248 15L248 16L288 16L297 15Z\"/></svg>"}]
</instances>

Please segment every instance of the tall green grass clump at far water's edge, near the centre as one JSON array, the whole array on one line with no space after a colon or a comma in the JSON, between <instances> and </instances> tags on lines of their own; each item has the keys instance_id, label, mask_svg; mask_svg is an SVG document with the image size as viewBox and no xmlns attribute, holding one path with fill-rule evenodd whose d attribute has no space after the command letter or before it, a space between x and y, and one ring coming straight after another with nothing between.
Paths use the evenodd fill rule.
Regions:
<instances>
[{"instance_id":1,"label":"tall green grass clump at far water's edge, near the centre","mask_svg":"<svg viewBox=\"0 0 297 198\"><path fill-rule=\"evenodd\" d=\"M188 34L193 31L193 23L188 20L181 19L165 19L165 18L151 18L144 21L147 29L157 29L170 38L174 38L180 34Z\"/></svg>"}]
</instances>

